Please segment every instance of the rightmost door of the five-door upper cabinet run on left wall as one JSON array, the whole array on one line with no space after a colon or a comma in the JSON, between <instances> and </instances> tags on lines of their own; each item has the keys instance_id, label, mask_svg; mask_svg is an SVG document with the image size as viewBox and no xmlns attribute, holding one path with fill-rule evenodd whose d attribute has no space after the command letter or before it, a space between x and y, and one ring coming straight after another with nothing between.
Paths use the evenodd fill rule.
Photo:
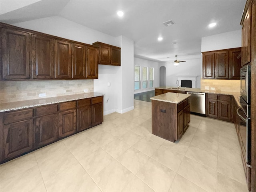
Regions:
<instances>
[{"instance_id":1,"label":"rightmost door of the five-door upper cabinet run on left wall","mask_svg":"<svg viewBox=\"0 0 256 192\"><path fill-rule=\"evenodd\" d=\"M86 46L86 78L98 78L99 49Z\"/></svg>"}]
</instances>

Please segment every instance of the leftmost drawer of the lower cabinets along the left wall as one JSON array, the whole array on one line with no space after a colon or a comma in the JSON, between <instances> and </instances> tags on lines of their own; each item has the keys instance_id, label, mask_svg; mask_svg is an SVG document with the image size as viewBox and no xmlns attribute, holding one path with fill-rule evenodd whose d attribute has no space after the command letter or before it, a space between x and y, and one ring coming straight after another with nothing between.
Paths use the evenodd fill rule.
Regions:
<instances>
[{"instance_id":1,"label":"leftmost drawer of the lower cabinets along the left wall","mask_svg":"<svg viewBox=\"0 0 256 192\"><path fill-rule=\"evenodd\" d=\"M20 110L1 114L2 123L8 124L33 117L33 109Z\"/></svg>"}]
</instances>

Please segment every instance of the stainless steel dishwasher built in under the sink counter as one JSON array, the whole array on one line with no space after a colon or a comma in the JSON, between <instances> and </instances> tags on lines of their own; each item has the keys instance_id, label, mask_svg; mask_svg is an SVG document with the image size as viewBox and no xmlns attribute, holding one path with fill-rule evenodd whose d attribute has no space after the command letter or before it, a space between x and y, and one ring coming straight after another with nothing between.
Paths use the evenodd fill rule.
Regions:
<instances>
[{"instance_id":1,"label":"stainless steel dishwasher built in under the sink counter","mask_svg":"<svg viewBox=\"0 0 256 192\"><path fill-rule=\"evenodd\" d=\"M206 116L205 110L205 93L187 92L190 94L190 112Z\"/></svg>"}]
</instances>

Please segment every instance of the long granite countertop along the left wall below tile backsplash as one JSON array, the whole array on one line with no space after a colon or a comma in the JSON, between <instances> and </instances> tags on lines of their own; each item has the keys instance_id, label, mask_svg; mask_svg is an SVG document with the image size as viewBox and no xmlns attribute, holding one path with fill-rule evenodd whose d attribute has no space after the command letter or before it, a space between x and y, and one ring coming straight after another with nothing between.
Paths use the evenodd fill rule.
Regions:
<instances>
[{"instance_id":1,"label":"long granite countertop along the left wall below tile backsplash","mask_svg":"<svg viewBox=\"0 0 256 192\"><path fill-rule=\"evenodd\" d=\"M25 100L25 101L10 102L10 103L1 103L0 112L18 110L18 109L24 109L24 108L30 108L30 107L36 107L36 106L43 106L43 105L49 105L54 103L67 102L67 101L74 101L74 100L98 97L103 95L104 94L101 94L101 93L91 92L91 93L74 94L74 95L68 95L68 96L58 96L58 97L40 98L40 99Z\"/></svg>"}]
</instances>

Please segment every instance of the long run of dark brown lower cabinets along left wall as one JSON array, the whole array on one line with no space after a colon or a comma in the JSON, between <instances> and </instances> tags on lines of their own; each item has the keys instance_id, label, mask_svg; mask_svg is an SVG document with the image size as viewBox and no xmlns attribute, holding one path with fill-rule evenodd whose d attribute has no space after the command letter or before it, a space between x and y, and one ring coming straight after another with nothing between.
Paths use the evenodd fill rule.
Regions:
<instances>
[{"instance_id":1,"label":"long run of dark brown lower cabinets along left wall","mask_svg":"<svg viewBox=\"0 0 256 192\"><path fill-rule=\"evenodd\" d=\"M0 163L3 163L101 124L103 96L1 112L0 118Z\"/></svg>"}]
</instances>

